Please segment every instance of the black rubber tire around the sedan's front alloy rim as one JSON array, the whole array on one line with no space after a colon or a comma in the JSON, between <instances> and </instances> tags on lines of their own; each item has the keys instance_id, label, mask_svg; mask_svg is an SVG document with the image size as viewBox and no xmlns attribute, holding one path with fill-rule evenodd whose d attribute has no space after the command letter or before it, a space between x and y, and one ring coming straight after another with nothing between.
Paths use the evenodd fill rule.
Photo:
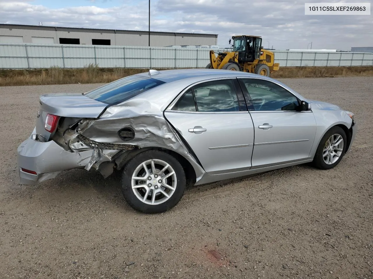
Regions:
<instances>
[{"instance_id":1,"label":"black rubber tire around the sedan's front alloy rim","mask_svg":"<svg viewBox=\"0 0 373 279\"><path fill-rule=\"evenodd\" d=\"M323 158L323 150L324 150L324 147L327 144L329 138L334 134L339 134L343 138L343 143L344 144L343 144L342 153L339 156L338 160L335 161L335 163L326 164L325 161L324 161L324 158ZM345 154L345 151L346 151L346 147L347 147L347 137L346 137L345 131L343 131L343 129L341 127L334 126L329 131L327 131L326 134L324 135L324 137L321 139L321 141L319 143L319 146L317 147L315 157L313 158L313 161L312 161L313 166L317 167L318 169L321 169L321 170L332 169L333 167L338 165L338 163L342 160L343 155Z\"/></svg>"}]
</instances>

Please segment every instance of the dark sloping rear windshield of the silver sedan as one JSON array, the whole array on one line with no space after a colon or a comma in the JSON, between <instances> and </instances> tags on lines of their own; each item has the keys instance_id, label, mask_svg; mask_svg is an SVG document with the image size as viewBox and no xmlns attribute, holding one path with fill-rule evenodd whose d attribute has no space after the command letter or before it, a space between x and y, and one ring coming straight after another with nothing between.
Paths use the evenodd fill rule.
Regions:
<instances>
[{"instance_id":1,"label":"dark sloping rear windshield of the silver sedan","mask_svg":"<svg viewBox=\"0 0 373 279\"><path fill-rule=\"evenodd\" d=\"M116 105L163 83L164 81L150 77L129 76L93 89L84 96L108 105Z\"/></svg>"}]
</instances>

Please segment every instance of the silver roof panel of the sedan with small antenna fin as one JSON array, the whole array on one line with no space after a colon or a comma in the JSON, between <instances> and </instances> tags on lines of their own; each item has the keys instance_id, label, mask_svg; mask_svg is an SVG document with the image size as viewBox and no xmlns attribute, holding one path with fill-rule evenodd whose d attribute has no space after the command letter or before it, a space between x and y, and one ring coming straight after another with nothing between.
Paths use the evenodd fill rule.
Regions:
<instances>
[{"instance_id":1,"label":"silver roof panel of the sedan with small antenna fin","mask_svg":"<svg viewBox=\"0 0 373 279\"><path fill-rule=\"evenodd\" d=\"M161 80L164 82L171 82L176 80L182 80L185 78L191 77L201 77L201 80L204 79L206 76L213 76L222 75L224 74L225 77L238 77L238 76L245 76L245 77L258 77L256 74L245 73L241 71L231 71L231 70L217 70L217 69L175 69L175 70L163 70L163 71L156 71L150 70L146 73L138 74L139 76L144 77L151 77L157 80Z\"/></svg>"}]
</instances>

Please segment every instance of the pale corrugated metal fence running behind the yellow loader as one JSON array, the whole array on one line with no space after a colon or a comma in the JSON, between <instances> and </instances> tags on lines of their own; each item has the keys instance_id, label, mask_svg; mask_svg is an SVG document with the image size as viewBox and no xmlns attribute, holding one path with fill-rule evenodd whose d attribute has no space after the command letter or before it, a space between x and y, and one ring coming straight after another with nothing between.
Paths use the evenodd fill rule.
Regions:
<instances>
[{"instance_id":1,"label":"pale corrugated metal fence running behind the yellow loader","mask_svg":"<svg viewBox=\"0 0 373 279\"><path fill-rule=\"evenodd\" d=\"M280 67L373 65L369 52L274 52ZM1 69L204 68L209 61L208 49L0 44Z\"/></svg>"}]
</instances>

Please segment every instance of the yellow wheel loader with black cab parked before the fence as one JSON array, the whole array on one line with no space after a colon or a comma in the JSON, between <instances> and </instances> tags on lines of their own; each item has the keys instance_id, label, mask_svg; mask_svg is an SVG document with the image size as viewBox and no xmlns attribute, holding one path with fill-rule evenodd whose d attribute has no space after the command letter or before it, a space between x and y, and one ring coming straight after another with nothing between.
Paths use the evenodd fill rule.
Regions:
<instances>
[{"instance_id":1,"label":"yellow wheel loader with black cab parked before the fence","mask_svg":"<svg viewBox=\"0 0 373 279\"><path fill-rule=\"evenodd\" d=\"M206 68L244 71L267 77L279 69L275 54L261 46L261 37L242 35L233 36L232 39L233 51L218 52L216 56L215 51L211 50L210 63Z\"/></svg>"}]
</instances>

